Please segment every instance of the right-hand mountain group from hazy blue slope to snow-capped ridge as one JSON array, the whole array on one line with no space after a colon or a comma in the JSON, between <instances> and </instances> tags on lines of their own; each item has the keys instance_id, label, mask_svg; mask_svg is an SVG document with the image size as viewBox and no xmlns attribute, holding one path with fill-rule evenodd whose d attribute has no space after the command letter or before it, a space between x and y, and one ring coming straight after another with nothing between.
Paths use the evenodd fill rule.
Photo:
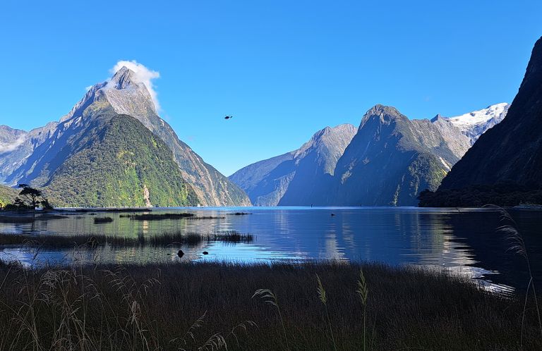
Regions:
<instances>
[{"instance_id":1,"label":"right-hand mountain group from hazy blue slope to snow-capped ridge","mask_svg":"<svg viewBox=\"0 0 542 351\"><path fill-rule=\"evenodd\" d=\"M456 117L410 120L391 106L376 105L359 128L333 130L325 142L334 156L296 155L311 147L251 164L230 176L253 204L416 205L422 190L436 190L479 135L502 121L508 104ZM326 128L327 129L327 128ZM325 129L325 130L326 130ZM321 130L311 138L318 140ZM304 154L303 154L304 155ZM332 166L334 168L332 168Z\"/></svg>"}]
</instances>

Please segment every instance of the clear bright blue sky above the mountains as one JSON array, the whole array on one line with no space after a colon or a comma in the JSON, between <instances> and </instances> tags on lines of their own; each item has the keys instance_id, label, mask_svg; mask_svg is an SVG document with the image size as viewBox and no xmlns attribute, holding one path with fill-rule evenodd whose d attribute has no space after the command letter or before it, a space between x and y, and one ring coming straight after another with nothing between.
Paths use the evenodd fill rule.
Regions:
<instances>
[{"instance_id":1,"label":"clear bright blue sky above the mountains","mask_svg":"<svg viewBox=\"0 0 542 351\"><path fill-rule=\"evenodd\" d=\"M540 0L2 0L0 124L58 120L135 60L159 72L160 115L229 176L375 104L431 118L511 102L541 14Z\"/></svg>"}]
</instances>

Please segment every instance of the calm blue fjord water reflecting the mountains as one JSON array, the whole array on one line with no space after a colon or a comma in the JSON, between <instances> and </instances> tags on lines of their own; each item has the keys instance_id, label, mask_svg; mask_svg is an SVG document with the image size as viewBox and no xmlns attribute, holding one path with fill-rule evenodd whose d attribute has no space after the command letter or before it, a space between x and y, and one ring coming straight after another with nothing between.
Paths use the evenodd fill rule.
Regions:
<instances>
[{"instance_id":1,"label":"calm blue fjord water reflecting the mountains","mask_svg":"<svg viewBox=\"0 0 542 351\"><path fill-rule=\"evenodd\" d=\"M246 215L236 215L241 211ZM119 213L77 213L34 223L0 223L0 232L32 235L121 235L138 237L182 233L251 233L248 243L204 241L198 246L100 246L51 250L5 247L1 257L24 264L152 263L163 261L234 261L338 259L391 265L446 268L472 278L516 288L528 281L524 259L508 250L497 228L504 224L492 209L422 209L416 207L208 207L153 209L152 213L191 212L210 219L138 221ZM531 268L542 277L542 211L511 210L529 250ZM109 216L112 223L95 224ZM179 249L185 255L179 258ZM203 251L209 252L203 255Z\"/></svg>"}]
</instances>

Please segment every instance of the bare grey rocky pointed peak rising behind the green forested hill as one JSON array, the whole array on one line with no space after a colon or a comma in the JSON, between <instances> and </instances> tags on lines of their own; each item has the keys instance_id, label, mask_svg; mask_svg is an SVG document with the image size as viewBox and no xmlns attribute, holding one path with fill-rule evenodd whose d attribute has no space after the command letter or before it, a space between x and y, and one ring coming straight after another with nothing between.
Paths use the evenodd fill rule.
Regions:
<instances>
[{"instance_id":1,"label":"bare grey rocky pointed peak rising behind the green forested hill","mask_svg":"<svg viewBox=\"0 0 542 351\"><path fill-rule=\"evenodd\" d=\"M103 113L107 111L107 113ZM174 130L157 115L155 105L145 85L135 79L126 67L118 70L111 80L94 85L73 109L60 121L36 128L28 133L4 128L4 139L13 145L16 134L22 142L0 152L0 181L8 185L30 183L37 187L52 184L59 167L73 156L71 147L77 137L84 137L90 121L112 114L131 116L147 130L157 135L171 152L178 165L181 180L190 185L198 199L193 205L245 206L250 200L242 190L222 176L215 168L181 142ZM83 133L83 134L81 134ZM139 140L132 141L137 144ZM194 197L190 197L194 199ZM84 199L80 206L85 206ZM126 203L127 206L131 204ZM174 204L175 205L175 204Z\"/></svg>"}]
</instances>

